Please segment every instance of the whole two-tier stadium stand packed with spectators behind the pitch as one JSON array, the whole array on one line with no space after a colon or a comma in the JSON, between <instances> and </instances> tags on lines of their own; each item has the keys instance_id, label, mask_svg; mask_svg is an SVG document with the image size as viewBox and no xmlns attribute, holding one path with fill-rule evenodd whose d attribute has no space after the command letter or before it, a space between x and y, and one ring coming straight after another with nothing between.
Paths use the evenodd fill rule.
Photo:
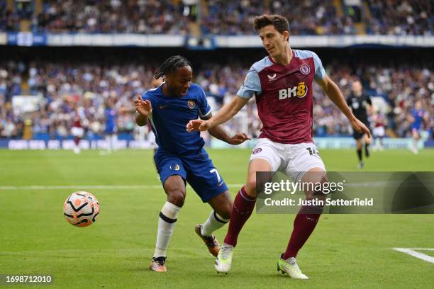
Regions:
<instances>
[{"instance_id":1,"label":"whole two-tier stadium stand packed with spectators behind the pitch","mask_svg":"<svg viewBox=\"0 0 434 289\"><path fill-rule=\"evenodd\" d=\"M125 35L125 39L127 36L135 37L131 35L164 35L165 38L160 40L163 42L162 46L165 46L167 35L170 38L185 35L180 44L173 46L177 47L176 49L167 48L163 54L189 55L194 61L194 81L204 88L214 110L218 110L223 103L235 96L247 69L252 62L263 57L263 50L254 44L246 46L252 49L240 46L241 50L245 50L243 52L228 49L222 50L223 52L208 51L197 54L199 52L185 49L188 47L189 37L196 35L203 41L216 35L235 35L243 38L241 42L247 43L248 39L245 37L255 35L252 19L262 13L281 13L287 16L291 35L316 37L315 41L308 42L313 44L313 47L318 47L317 41L323 41L318 40L321 38L317 37L318 35L333 38L335 42L340 42L342 38L339 37L343 35L380 35L379 40L392 35L396 36L392 45L397 46L401 43L400 36L432 37L434 30L433 4L425 0L308 0L301 3L295 0L0 1L0 42L3 41L0 43L0 52L8 55L8 58L0 62L0 137L65 139L69 137L72 126L74 103L78 103L80 114L84 118L82 121L87 128L87 137L101 137L104 131L104 108L109 98L113 99L119 111L119 132L130 138L135 135L133 115L127 113L133 109L131 100L150 89L152 72L161 60L157 60L155 55L164 49L156 45L159 47L157 50L149 47L143 47L143 50L128 47L83 50L83 47L77 46L94 45L91 43L92 38L77 44L74 43L77 38L72 37L84 33L91 36L94 33L118 35L121 38ZM59 43L62 45L63 38L49 38L47 33L67 36L67 42L76 47L62 50L57 46ZM353 40L350 45L357 46L357 41L354 42L356 37L350 38ZM406 40L413 42L413 39ZM97 46L111 45L105 44L105 40L100 41L102 42ZM130 45L128 41L130 40L119 46ZM142 46L152 45L152 41L146 41L149 43L145 42ZM325 52L326 57L322 58L327 73L340 86L345 96L350 93L352 81L360 79L371 96L377 96L384 101L382 113L386 118L389 137L411 135L411 109L416 101L421 101L423 110L429 116L423 128L428 132L430 140L433 140L432 45L430 42L423 42L421 47L425 48L415 45L414 50L400 52L390 49L393 57L388 51L382 51L382 56L372 60L372 55L377 52L375 42L372 44L369 41L355 53L352 52L354 47L330 48ZM294 48L297 44L291 42ZM24 50L16 45L33 47ZM37 52L36 45L41 45ZM207 48L201 46L200 41L198 47L191 47L199 47L199 50L222 48L218 45ZM223 48L225 47L230 46L223 45ZM308 46L305 43L303 47ZM312 50L316 51L316 48ZM360 52L362 50L366 53ZM337 53L340 54L339 61L335 57ZM321 53L319 54L322 57ZM39 57L40 55L43 57ZM140 57L137 58L138 55ZM239 57L240 55L243 57ZM420 56L425 59L415 61ZM97 60L94 60L95 57ZM380 61L387 57L390 58L389 62ZM314 134L319 137L351 135L351 128L345 117L318 86L314 89ZM23 113L17 111L12 103L13 96L20 95L41 96L43 101L37 111ZM254 101L251 101L245 110L247 132L257 137L261 123ZM228 124L228 129L235 132L239 129L238 125L235 121ZM30 128L30 134L29 130L24 130L25 127Z\"/></svg>"}]
</instances>

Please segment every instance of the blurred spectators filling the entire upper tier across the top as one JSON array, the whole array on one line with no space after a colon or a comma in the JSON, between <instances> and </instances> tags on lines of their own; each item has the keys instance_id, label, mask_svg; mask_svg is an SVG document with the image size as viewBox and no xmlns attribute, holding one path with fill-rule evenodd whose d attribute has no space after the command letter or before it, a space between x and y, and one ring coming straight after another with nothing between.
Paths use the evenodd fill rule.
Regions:
<instances>
[{"instance_id":1,"label":"blurred spectators filling the entire upper tier across the top","mask_svg":"<svg viewBox=\"0 0 434 289\"><path fill-rule=\"evenodd\" d=\"M432 35L433 4L428 0L374 1L347 6L321 0L44 0L41 11L11 10L0 1L0 31L19 31L20 19L39 33L253 34L253 17L279 13L290 19L292 35ZM30 6L31 8L31 6ZM200 13L198 11L201 11ZM356 29L355 23L361 23Z\"/></svg>"}]
</instances>

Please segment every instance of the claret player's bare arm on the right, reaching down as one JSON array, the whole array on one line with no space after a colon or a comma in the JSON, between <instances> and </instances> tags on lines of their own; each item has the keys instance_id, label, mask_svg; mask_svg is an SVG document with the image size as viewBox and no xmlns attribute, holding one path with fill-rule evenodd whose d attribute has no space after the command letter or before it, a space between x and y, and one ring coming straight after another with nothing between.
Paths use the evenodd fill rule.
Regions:
<instances>
[{"instance_id":1,"label":"claret player's bare arm on the right, reaching down","mask_svg":"<svg viewBox=\"0 0 434 289\"><path fill-rule=\"evenodd\" d=\"M333 101L336 106L338 106L340 111L343 112L343 114L348 118L348 120L350 120L352 128L357 132L365 132L368 137L371 137L371 132L369 132L369 129L366 127L366 125L363 124L360 120L358 120L354 114L352 114L352 111L347 105L347 102L345 101L342 92L340 91L339 87L333 82L333 80L331 80L330 77L325 75L322 79L316 79L316 82L321 86L325 94L327 94L328 98L330 98L330 100Z\"/></svg>"}]
</instances>

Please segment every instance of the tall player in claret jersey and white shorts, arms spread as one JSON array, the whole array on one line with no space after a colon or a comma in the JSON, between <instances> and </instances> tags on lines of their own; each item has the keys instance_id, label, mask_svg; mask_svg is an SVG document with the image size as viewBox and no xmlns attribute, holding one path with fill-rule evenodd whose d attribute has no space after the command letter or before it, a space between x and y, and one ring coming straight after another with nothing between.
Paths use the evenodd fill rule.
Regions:
<instances>
[{"instance_id":1,"label":"tall player in claret jersey and white shorts, arms spread","mask_svg":"<svg viewBox=\"0 0 434 289\"><path fill-rule=\"evenodd\" d=\"M247 182L240 189L230 214L228 233L216 259L218 272L227 273L238 234L256 203L256 172L282 171L296 181L325 181L325 166L312 140L313 79L350 120L352 128L369 135L367 127L352 114L336 84L325 74L318 55L289 46L289 23L283 16L262 15L254 20L262 45L269 56L252 65L243 86L210 120L192 120L188 131L209 130L233 118L255 96L263 127L250 156ZM306 198L323 198L321 192L306 192ZM306 208L305 208L306 207ZM277 261L282 273L306 279L296 256L316 227L321 208L301 207L286 251Z\"/></svg>"}]
</instances>

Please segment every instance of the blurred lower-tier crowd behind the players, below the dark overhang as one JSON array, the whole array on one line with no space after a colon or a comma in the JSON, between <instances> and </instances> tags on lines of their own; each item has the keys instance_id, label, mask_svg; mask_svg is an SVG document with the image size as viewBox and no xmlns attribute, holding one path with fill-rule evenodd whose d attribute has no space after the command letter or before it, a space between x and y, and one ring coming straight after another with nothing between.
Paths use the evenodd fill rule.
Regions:
<instances>
[{"instance_id":1,"label":"blurred lower-tier crowd behind the players, below the dark overhang","mask_svg":"<svg viewBox=\"0 0 434 289\"><path fill-rule=\"evenodd\" d=\"M118 132L133 135L135 130L133 98L151 88L157 64L99 65L33 62L29 67L21 63L0 64L0 137L22 137L23 122L32 120L33 134L48 134L51 138L69 135L74 108L87 128L88 137L104 131L104 111L109 102L118 111ZM214 110L231 100L243 84L246 66L233 62L221 65L209 63L195 69L194 81L200 84ZM352 67L352 66L351 66ZM429 69L406 65L383 67L374 64L350 65L331 63L327 72L342 89L350 94L352 81L361 79L372 96L380 96L386 103L385 113L390 136L411 135L411 109L417 100L430 116L424 128L433 137L434 128L434 74ZM30 115L13 111L11 96L21 93L23 72L27 70L30 94L42 94L44 103ZM346 136L351 128L342 113L335 108L319 86L314 86L314 124L317 136ZM260 134L261 123L257 117L255 102L247 105L248 133ZM239 130L237 123L228 124L232 132Z\"/></svg>"}]
</instances>

